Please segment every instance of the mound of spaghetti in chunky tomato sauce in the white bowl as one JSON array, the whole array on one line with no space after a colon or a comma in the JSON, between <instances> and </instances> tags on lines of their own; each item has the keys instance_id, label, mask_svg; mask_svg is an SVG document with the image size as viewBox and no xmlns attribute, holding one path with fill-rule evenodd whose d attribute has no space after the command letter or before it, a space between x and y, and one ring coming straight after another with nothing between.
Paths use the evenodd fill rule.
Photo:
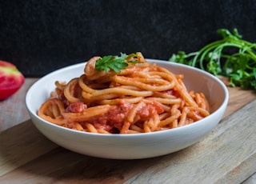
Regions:
<instances>
[{"instance_id":1,"label":"mound of spaghetti in chunky tomato sauce in the white bowl","mask_svg":"<svg viewBox=\"0 0 256 184\"><path fill-rule=\"evenodd\" d=\"M150 64L141 53L127 57L120 72L96 70L99 58L91 58L80 77L56 81L38 116L74 130L134 134L186 126L210 114L205 95L186 90L182 74Z\"/></svg>"}]
</instances>

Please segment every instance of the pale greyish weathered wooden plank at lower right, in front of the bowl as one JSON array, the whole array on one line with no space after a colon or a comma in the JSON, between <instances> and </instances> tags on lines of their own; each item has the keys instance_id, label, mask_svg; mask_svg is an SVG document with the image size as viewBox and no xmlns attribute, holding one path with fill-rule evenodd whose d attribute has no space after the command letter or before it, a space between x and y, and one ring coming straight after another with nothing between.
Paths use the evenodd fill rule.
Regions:
<instances>
[{"instance_id":1,"label":"pale greyish weathered wooden plank at lower right, in front of the bowl","mask_svg":"<svg viewBox=\"0 0 256 184\"><path fill-rule=\"evenodd\" d=\"M256 100L220 122L202 142L159 159L161 166L151 166L136 176L136 182L243 182L256 170L256 114L250 113L255 111Z\"/></svg>"}]
</instances>

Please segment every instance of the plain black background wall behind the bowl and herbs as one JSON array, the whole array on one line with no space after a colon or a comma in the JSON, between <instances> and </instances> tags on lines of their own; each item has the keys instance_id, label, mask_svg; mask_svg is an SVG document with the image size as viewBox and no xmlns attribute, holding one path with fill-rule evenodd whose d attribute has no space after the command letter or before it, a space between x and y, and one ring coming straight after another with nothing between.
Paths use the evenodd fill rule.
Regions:
<instances>
[{"instance_id":1,"label":"plain black background wall behind the bowl and herbs","mask_svg":"<svg viewBox=\"0 0 256 184\"><path fill-rule=\"evenodd\" d=\"M94 55L141 51L168 60L220 38L220 28L256 42L256 1L0 1L0 59L26 77Z\"/></svg>"}]
</instances>

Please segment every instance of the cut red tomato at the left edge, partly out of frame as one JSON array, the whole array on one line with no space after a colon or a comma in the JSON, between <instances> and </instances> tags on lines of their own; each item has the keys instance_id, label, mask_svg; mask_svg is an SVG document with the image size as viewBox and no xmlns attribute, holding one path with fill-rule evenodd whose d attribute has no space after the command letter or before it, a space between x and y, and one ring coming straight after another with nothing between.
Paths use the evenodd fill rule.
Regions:
<instances>
[{"instance_id":1,"label":"cut red tomato at the left edge, partly out of frame","mask_svg":"<svg viewBox=\"0 0 256 184\"><path fill-rule=\"evenodd\" d=\"M0 100L15 94L24 82L24 76L14 64L0 60Z\"/></svg>"}]
</instances>

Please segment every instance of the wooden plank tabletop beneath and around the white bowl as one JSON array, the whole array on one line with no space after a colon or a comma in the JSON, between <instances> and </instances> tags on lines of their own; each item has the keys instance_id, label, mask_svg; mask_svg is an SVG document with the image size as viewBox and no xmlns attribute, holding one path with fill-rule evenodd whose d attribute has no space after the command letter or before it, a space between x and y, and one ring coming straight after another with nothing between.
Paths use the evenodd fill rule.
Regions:
<instances>
[{"instance_id":1,"label":"wooden plank tabletop beneath and around the white bowl","mask_svg":"<svg viewBox=\"0 0 256 184\"><path fill-rule=\"evenodd\" d=\"M50 142L30 121L25 95L0 102L0 183L256 183L256 94L229 88L222 121L200 142L158 158L111 160Z\"/></svg>"}]
</instances>

